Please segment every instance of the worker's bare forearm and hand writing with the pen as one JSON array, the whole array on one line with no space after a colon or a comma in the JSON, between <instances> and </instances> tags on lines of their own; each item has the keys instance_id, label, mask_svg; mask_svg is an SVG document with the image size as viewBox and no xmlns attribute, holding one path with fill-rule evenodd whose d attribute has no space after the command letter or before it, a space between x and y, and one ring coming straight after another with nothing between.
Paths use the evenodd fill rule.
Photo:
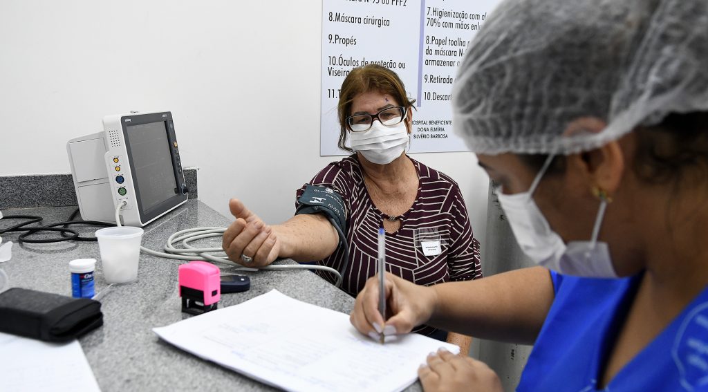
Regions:
<instances>
[{"instance_id":1,"label":"worker's bare forearm and hand writing with the pen","mask_svg":"<svg viewBox=\"0 0 708 392\"><path fill-rule=\"evenodd\" d=\"M530 267L467 282L417 286L386 275L388 309L385 322L396 333L421 324L475 338L533 343L554 299L548 270ZM377 279L369 279L357 296L350 320L365 335L384 325L378 311Z\"/></svg>"}]
</instances>

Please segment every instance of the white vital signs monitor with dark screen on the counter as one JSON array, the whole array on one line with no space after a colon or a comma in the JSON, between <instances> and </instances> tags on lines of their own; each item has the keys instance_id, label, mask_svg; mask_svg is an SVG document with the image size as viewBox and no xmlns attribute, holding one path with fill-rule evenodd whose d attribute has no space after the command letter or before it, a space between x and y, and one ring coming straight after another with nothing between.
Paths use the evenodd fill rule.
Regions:
<instances>
[{"instance_id":1,"label":"white vital signs monitor with dark screen on the counter","mask_svg":"<svg viewBox=\"0 0 708 392\"><path fill-rule=\"evenodd\" d=\"M187 201L172 113L103 117L103 132L67 143L81 218L142 227Z\"/></svg>"}]
</instances>

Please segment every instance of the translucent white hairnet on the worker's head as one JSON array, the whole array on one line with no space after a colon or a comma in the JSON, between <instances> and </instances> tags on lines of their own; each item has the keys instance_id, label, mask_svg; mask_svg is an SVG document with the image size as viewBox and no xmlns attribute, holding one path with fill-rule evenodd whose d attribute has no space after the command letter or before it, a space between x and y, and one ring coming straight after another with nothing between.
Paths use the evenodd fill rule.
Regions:
<instances>
[{"instance_id":1,"label":"translucent white hairnet on the worker's head","mask_svg":"<svg viewBox=\"0 0 708 392\"><path fill-rule=\"evenodd\" d=\"M708 109L708 0L507 0L453 88L474 152L572 154ZM564 134L581 117L601 132Z\"/></svg>"}]
</instances>

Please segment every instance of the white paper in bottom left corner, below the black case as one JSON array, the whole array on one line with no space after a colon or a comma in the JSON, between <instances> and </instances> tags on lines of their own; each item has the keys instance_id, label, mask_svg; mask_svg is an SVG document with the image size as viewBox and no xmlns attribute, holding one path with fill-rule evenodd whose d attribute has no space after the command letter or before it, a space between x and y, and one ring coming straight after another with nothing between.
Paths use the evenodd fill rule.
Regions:
<instances>
[{"instance_id":1,"label":"white paper in bottom left corner, below the black case","mask_svg":"<svg viewBox=\"0 0 708 392\"><path fill-rule=\"evenodd\" d=\"M58 344L0 333L0 374L3 391L101 391L78 340Z\"/></svg>"}]
</instances>

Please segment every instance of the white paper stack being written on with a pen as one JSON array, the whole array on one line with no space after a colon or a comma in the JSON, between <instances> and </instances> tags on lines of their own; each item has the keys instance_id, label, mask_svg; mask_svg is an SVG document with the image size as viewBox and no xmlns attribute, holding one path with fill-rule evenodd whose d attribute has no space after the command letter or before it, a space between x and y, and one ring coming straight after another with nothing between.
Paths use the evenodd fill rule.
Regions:
<instances>
[{"instance_id":1,"label":"white paper stack being written on with a pen","mask_svg":"<svg viewBox=\"0 0 708 392\"><path fill-rule=\"evenodd\" d=\"M287 391L400 391L430 352L459 347L423 335L381 345L344 313L272 290L166 327L160 338L203 359Z\"/></svg>"}]
</instances>

